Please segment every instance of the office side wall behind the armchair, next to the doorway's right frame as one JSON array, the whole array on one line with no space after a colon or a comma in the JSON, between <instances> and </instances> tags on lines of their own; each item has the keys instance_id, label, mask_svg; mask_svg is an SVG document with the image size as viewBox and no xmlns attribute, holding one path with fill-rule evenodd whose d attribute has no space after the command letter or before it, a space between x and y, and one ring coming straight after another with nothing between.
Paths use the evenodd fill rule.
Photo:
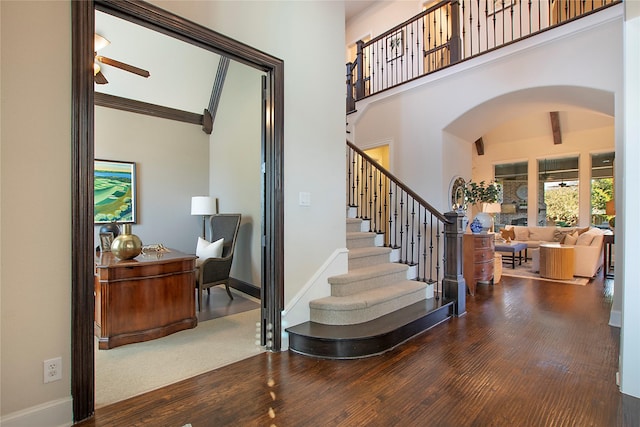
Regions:
<instances>
[{"instance_id":1,"label":"office side wall behind the armchair, next to the doorway's right frame","mask_svg":"<svg viewBox=\"0 0 640 427\"><path fill-rule=\"evenodd\" d=\"M231 61L211 135L211 195L220 213L240 213L231 276L261 280L261 75Z\"/></svg>"}]
</instances>

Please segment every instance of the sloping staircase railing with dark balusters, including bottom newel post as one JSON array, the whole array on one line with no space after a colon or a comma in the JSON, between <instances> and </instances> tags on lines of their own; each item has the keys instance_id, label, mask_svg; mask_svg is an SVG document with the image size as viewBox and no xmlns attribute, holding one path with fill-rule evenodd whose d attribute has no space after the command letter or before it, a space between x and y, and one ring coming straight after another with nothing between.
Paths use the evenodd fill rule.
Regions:
<instances>
[{"instance_id":1,"label":"sloping staircase railing with dark balusters, including bottom newel post","mask_svg":"<svg viewBox=\"0 0 640 427\"><path fill-rule=\"evenodd\" d=\"M415 268L416 280L434 285L436 299L454 299L456 314L464 313L464 213L440 213L349 141L347 204L356 218L368 220L370 232L384 235L384 246L399 252L399 262Z\"/></svg>"}]
</instances>

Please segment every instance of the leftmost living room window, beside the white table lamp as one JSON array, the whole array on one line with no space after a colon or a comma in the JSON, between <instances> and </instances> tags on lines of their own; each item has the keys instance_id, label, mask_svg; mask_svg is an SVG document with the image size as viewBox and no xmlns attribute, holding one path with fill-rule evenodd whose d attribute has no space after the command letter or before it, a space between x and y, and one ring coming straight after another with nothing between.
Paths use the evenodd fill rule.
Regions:
<instances>
[{"instance_id":1,"label":"leftmost living room window, beside the white table lamp","mask_svg":"<svg viewBox=\"0 0 640 427\"><path fill-rule=\"evenodd\" d=\"M502 206L495 217L495 229L505 225L527 225L527 162L496 165L495 180L502 185Z\"/></svg>"}]
</instances>

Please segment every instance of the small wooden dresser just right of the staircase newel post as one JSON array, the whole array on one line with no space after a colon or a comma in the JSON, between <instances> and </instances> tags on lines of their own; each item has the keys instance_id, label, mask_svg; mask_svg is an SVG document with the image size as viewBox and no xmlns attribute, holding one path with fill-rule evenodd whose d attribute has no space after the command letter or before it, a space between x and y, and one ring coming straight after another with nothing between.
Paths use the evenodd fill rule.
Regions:
<instances>
[{"instance_id":1,"label":"small wooden dresser just right of the staircase newel post","mask_svg":"<svg viewBox=\"0 0 640 427\"><path fill-rule=\"evenodd\" d=\"M465 234L462 238L462 275L471 295L475 295L478 282L493 281L494 248L493 234Z\"/></svg>"}]
</instances>

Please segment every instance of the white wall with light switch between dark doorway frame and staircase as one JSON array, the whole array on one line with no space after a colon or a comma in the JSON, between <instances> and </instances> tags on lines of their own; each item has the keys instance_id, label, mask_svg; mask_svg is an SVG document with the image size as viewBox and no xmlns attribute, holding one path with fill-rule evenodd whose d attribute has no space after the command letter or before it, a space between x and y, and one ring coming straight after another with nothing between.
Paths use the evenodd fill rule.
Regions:
<instances>
[{"instance_id":1,"label":"white wall with light switch between dark doorway frame and staircase","mask_svg":"<svg viewBox=\"0 0 640 427\"><path fill-rule=\"evenodd\" d=\"M345 246L344 7L329 1L154 3L284 61L286 304ZM311 206L299 206L300 192L311 193Z\"/></svg>"}]
</instances>

